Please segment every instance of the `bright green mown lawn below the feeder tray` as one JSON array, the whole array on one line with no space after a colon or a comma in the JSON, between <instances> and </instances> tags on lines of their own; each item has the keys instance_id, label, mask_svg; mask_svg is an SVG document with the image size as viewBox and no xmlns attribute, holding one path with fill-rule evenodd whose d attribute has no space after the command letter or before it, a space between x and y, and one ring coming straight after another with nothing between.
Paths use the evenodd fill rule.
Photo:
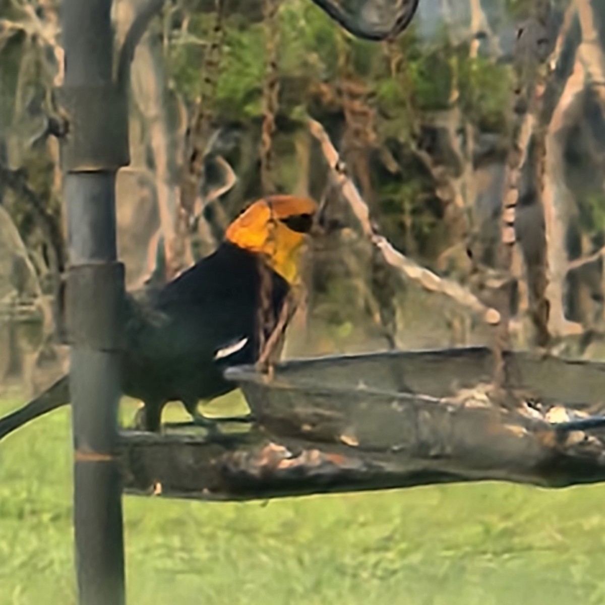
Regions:
<instances>
[{"instance_id":1,"label":"bright green mown lawn below the feeder tray","mask_svg":"<svg viewBox=\"0 0 605 605\"><path fill-rule=\"evenodd\" d=\"M18 405L0 402L0 414ZM605 488L125 497L128 604L605 603ZM69 410L0 442L0 605L75 603Z\"/></svg>"}]
</instances>

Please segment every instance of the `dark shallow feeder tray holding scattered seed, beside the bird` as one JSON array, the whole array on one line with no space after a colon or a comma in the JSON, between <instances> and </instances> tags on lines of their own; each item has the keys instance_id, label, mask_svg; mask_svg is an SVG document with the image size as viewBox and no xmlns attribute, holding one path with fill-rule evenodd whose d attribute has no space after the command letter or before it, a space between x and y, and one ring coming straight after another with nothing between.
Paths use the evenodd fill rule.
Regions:
<instances>
[{"instance_id":1,"label":"dark shallow feeder tray holding scattered seed, beside the bird","mask_svg":"<svg viewBox=\"0 0 605 605\"><path fill-rule=\"evenodd\" d=\"M573 419L605 408L605 364L529 352L509 353L507 364L509 387L542 410L555 406ZM253 429L219 440L127 432L125 491L241 500L476 480L549 487L605 480L601 418L588 421L594 427L551 424L537 411L443 401L488 384L493 371L485 347L299 359L270 375L230 368Z\"/></svg>"}]
</instances>

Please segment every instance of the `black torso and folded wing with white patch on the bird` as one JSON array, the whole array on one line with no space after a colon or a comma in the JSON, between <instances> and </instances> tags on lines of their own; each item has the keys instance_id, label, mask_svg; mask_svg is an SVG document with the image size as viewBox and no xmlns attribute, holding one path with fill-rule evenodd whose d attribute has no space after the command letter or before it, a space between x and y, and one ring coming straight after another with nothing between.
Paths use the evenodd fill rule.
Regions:
<instances>
[{"instance_id":1,"label":"black torso and folded wing with white patch on the bird","mask_svg":"<svg viewBox=\"0 0 605 605\"><path fill-rule=\"evenodd\" d=\"M230 244L136 304L126 326L125 391L143 397L212 397L227 365L258 354L258 258ZM278 311L287 284L273 275Z\"/></svg>"}]
</instances>

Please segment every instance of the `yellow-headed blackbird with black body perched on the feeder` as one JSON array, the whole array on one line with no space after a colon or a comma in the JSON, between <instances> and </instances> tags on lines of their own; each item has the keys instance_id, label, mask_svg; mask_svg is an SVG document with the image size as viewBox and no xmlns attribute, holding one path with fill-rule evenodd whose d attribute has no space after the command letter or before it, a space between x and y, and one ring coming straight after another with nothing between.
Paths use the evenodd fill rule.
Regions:
<instances>
[{"instance_id":1,"label":"yellow-headed blackbird with black body perched on the feeder","mask_svg":"<svg viewBox=\"0 0 605 605\"><path fill-rule=\"evenodd\" d=\"M257 361L261 335L269 338L299 280L299 255L316 210L313 200L291 195L255 201L214 253L155 291L126 296L122 392L145 404L141 428L159 430L169 401L181 401L200 424L211 423L197 413L197 404L234 390L223 378L226 367ZM267 282L272 320L261 326ZM64 376L1 419L0 438L69 401Z\"/></svg>"}]
</instances>

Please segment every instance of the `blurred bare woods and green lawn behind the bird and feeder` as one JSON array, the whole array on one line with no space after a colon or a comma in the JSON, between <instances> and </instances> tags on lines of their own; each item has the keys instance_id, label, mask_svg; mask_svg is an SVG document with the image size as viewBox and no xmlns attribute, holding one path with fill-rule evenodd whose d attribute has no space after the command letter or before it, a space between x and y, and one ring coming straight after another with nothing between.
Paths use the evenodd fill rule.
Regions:
<instances>
[{"instance_id":1,"label":"blurred bare woods and green lawn behind the bird and feeder","mask_svg":"<svg viewBox=\"0 0 605 605\"><path fill-rule=\"evenodd\" d=\"M309 299L287 355L376 350L393 341L401 348L491 342L486 325L459 301L381 273L329 187L307 119L324 126L397 250L491 300L502 284L502 200L516 136L515 26L539 2L421 0L411 27L388 43L351 38L309 0L223 4L215 29L214 0L166 2L137 50L132 162L120 171L117 195L129 287L208 253L227 222L270 185L325 198L347 224L310 250ZM519 233L529 235L505 271L520 292L511 326L518 345L531 344L526 252L546 229L558 287L549 296L552 308L561 307L549 321L551 335L559 352L600 359L605 4L550 4L556 47L546 76L555 90L543 123L548 161L534 187L540 195L519 202L526 221ZM50 135L58 117L58 6L0 0L0 413L24 399L10 385L39 391L65 365L55 312L65 237ZM116 2L118 34L132 6ZM275 19L266 17L272 7ZM276 66L269 68L272 52ZM267 114L276 123L272 162L261 149ZM188 232L177 209L187 201L181 185L193 147L203 162L188 211L201 214ZM543 226L537 208L554 222ZM183 258L172 247L179 238ZM70 456L67 410L0 444L0 605L74 602ZM129 598L602 603L602 492L461 485L268 506L126 498Z\"/></svg>"}]
</instances>

